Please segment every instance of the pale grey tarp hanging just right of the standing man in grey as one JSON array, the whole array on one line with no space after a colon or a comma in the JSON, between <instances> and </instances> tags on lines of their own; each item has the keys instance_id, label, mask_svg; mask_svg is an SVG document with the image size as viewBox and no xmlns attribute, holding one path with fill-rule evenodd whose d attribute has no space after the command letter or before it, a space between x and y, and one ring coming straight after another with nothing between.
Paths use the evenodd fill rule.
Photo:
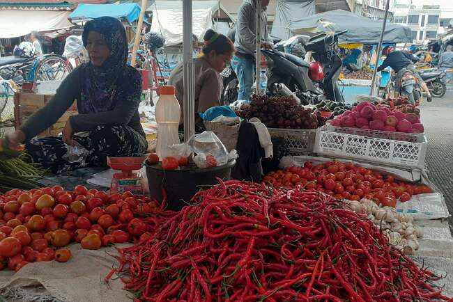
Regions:
<instances>
[{"instance_id":1,"label":"pale grey tarp hanging just right of the standing man in grey","mask_svg":"<svg viewBox=\"0 0 453 302\"><path fill-rule=\"evenodd\" d=\"M291 21L315 13L314 0L279 0L275 8L275 20L270 35L282 40L289 39L291 38L291 31L289 31L288 25Z\"/></svg>"}]
</instances>

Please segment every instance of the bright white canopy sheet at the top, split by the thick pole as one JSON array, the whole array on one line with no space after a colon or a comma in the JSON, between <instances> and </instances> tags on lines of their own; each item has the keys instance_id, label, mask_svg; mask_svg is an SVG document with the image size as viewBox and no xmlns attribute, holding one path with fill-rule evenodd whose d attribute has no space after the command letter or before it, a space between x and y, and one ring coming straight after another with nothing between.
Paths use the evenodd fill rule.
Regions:
<instances>
[{"instance_id":1,"label":"bright white canopy sheet at the top, split by the thick pole","mask_svg":"<svg viewBox=\"0 0 453 302\"><path fill-rule=\"evenodd\" d=\"M165 38L165 46L183 42L183 1L155 1L147 11L153 12L151 31ZM199 39L213 28L214 20L233 22L220 1L192 1L193 33Z\"/></svg>"}]
</instances>

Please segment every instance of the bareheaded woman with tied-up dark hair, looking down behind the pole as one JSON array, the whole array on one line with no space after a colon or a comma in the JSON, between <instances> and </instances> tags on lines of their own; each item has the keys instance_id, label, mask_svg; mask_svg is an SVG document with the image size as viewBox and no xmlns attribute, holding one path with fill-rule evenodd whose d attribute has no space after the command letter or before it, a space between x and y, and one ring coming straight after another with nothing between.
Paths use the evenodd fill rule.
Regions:
<instances>
[{"instance_id":1,"label":"bareheaded woman with tied-up dark hair, looking down behind the pole","mask_svg":"<svg viewBox=\"0 0 453 302\"><path fill-rule=\"evenodd\" d=\"M202 56L194 60L195 74L195 112L204 112L214 106L222 106L223 82L220 72L227 67L234 54L233 42L225 35L208 29L204 35ZM180 63L171 72L168 84L175 86L176 99L183 108L184 67ZM181 122L183 123L181 111Z\"/></svg>"}]
</instances>

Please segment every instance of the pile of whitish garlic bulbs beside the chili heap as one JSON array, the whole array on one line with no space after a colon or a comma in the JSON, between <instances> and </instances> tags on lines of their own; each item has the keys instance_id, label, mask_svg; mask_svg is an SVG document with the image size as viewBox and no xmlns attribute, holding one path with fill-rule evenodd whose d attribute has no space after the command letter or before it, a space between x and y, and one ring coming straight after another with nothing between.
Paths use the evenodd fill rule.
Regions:
<instances>
[{"instance_id":1,"label":"pile of whitish garlic bulbs beside the chili heap","mask_svg":"<svg viewBox=\"0 0 453 302\"><path fill-rule=\"evenodd\" d=\"M346 207L367 218L388 237L389 244L413 254L418 249L417 238L423 237L420 227L413 225L413 217L397 212L394 207L379 207L372 200L345 200Z\"/></svg>"}]
</instances>

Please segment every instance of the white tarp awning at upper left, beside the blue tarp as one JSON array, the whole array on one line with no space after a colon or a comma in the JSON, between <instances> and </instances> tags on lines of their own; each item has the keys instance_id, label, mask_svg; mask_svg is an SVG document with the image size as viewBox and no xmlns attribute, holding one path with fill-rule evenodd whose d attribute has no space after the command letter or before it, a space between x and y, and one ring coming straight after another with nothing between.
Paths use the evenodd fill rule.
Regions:
<instances>
[{"instance_id":1,"label":"white tarp awning at upper left, beside the blue tarp","mask_svg":"<svg viewBox=\"0 0 453 302\"><path fill-rule=\"evenodd\" d=\"M69 29L69 11L0 10L0 38L15 38L31 31L50 32Z\"/></svg>"}]
</instances>

